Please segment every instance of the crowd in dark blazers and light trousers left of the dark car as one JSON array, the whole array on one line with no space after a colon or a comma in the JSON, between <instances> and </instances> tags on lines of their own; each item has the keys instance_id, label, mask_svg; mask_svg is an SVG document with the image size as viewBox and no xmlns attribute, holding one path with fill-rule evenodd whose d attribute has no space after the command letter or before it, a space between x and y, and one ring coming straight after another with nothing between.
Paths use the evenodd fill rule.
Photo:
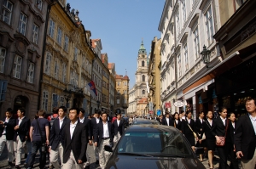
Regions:
<instances>
[{"instance_id":1,"label":"crowd in dark blazers and light trousers left of the dark car","mask_svg":"<svg viewBox=\"0 0 256 169\"><path fill-rule=\"evenodd\" d=\"M84 115L84 109L54 108L54 114L45 118L45 111L38 110L32 120L26 110L20 108L15 118L12 109L0 121L0 155L5 145L8 150L9 166L20 168L21 155L25 153L24 166L33 167L40 152L39 168L45 168L47 156L50 168L90 168L87 146L93 146L96 165L105 168L110 153L105 145L114 147L125 132L125 121L121 114L114 118L107 111L96 110L94 115ZM31 146L28 146L30 144Z\"/></svg>"}]
</instances>

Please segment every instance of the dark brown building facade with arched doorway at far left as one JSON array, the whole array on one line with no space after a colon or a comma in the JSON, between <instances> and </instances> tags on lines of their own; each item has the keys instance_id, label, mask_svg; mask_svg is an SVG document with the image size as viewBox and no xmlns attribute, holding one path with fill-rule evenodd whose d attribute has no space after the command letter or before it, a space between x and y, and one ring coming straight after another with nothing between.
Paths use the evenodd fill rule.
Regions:
<instances>
[{"instance_id":1,"label":"dark brown building facade with arched doorway at far left","mask_svg":"<svg viewBox=\"0 0 256 169\"><path fill-rule=\"evenodd\" d=\"M0 1L0 117L12 108L38 110L44 30L50 1Z\"/></svg>"}]
</instances>

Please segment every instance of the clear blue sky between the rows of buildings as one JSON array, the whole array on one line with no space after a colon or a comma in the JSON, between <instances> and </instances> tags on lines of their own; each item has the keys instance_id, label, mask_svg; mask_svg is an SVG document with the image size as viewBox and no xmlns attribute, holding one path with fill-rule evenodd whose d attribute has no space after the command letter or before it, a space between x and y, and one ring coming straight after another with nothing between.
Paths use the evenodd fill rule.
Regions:
<instances>
[{"instance_id":1,"label":"clear blue sky between the rows of buildings","mask_svg":"<svg viewBox=\"0 0 256 169\"><path fill-rule=\"evenodd\" d=\"M117 74L130 78L135 84L137 52L142 38L147 53L154 37L160 38L158 26L165 0L67 0L79 10L85 30L91 38L102 39L102 53L109 63L115 63Z\"/></svg>"}]
</instances>

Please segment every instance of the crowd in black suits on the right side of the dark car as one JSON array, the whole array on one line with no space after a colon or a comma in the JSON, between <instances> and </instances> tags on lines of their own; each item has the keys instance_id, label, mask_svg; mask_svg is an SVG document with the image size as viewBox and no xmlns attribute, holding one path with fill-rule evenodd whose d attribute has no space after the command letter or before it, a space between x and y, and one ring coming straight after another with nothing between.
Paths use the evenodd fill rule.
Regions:
<instances>
[{"instance_id":1,"label":"crowd in black suits on the right side of the dark car","mask_svg":"<svg viewBox=\"0 0 256 169\"><path fill-rule=\"evenodd\" d=\"M191 148L201 161L208 159L213 168L214 152L217 149L219 169L238 169L241 163L244 169L256 168L256 98L247 98L247 114L236 116L226 107L218 110L199 112L196 120L192 111L159 115L156 120L161 125L176 127L187 138ZM230 160L228 166L227 161Z\"/></svg>"}]
</instances>

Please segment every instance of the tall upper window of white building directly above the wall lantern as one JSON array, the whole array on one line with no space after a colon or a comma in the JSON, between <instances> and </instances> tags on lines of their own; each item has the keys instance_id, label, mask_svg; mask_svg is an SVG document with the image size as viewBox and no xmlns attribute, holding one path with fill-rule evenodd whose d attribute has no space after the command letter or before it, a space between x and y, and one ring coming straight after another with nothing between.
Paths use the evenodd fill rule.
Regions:
<instances>
[{"instance_id":1,"label":"tall upper window of white building directly above the wall lantern","mask_svg":"<svg viewBox=\"0 0 256 169\"><path fill-rule=\"evenodd\" d=\"M207 42L208 46L213 42L213 26L212 26L212 8L211 6L207 9L205 14L206 27L207 27Z\"/></svg>"}]
</instances>

